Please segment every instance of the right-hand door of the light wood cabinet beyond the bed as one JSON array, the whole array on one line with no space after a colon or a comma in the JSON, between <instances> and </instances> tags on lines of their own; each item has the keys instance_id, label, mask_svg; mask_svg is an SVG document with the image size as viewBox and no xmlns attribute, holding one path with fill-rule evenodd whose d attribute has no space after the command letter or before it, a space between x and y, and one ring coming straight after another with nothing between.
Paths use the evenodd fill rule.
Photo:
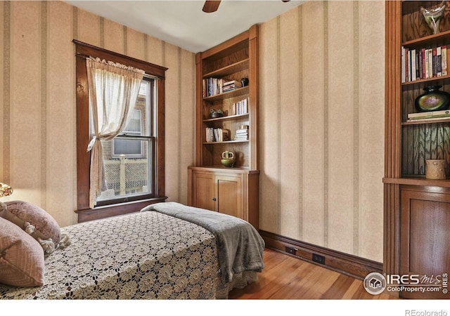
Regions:
<instances>
[{"instance_id":1,"label":"right-hand door of the light wood cabinet beyond the bed","mask_svg":"<svg viewBox=\"0 0 450 316\"><path fill-rule=\"evenodd\" d=\"M241 179L238 176L215 176L217 211L241 218Z\"/></svg>"}]
</instances>

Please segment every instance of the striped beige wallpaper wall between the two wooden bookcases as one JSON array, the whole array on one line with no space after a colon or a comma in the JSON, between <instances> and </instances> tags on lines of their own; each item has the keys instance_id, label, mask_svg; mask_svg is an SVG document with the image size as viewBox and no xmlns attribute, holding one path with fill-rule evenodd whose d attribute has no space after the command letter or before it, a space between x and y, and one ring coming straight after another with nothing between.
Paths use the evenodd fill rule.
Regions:
<instances>
[{"instance_id":1,"label":"striped beige wallpaper wall between the two wooden bookcases","mask_svg":"<svg viewBox=\"0 0 450 316\"><path fill-rule=\"evenodd\" d=\"M384 6L309 1L260 46L260 228L379 262Z\"/></svg>"}]
</instances>

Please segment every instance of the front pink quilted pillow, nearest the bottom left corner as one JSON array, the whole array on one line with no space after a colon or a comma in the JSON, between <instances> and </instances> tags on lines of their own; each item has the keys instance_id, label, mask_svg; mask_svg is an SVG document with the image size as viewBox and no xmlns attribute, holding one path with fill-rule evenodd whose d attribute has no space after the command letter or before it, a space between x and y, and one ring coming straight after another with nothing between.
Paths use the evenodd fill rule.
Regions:
<instances>
[{"instance_id":1,"label":"front pink quilted pillow, nearest the bottom left corner","mask_svg":"<svg viewBox=\"0 0 450 316\"><path fill-rule=\"evenodd\" d=\"M33 237L0 218L0 283L13 287L44 284L44 252Z\"/></svg>"}]
</instances>

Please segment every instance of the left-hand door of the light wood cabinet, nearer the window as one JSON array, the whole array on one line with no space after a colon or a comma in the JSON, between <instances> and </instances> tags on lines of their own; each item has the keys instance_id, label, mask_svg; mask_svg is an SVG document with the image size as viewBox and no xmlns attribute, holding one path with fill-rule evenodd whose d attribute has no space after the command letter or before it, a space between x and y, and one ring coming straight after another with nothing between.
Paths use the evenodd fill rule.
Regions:
<instances>
[{"instance_id":1,"label":"left-hand door of the light wood cabinet, nearer the window","mask_svg":"<svg viewBox=\"0 0 450 316\"><path fill-rule=\"evenodd\" d=\"M215 211L214 175L193 172L193 206Z\"/></svg>"}]
</instances>

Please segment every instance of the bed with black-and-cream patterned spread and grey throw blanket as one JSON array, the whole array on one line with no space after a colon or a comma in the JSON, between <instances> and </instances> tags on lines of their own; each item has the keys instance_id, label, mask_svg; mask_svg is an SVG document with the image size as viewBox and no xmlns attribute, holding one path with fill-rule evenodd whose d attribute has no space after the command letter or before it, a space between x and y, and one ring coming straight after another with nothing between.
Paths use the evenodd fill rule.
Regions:
<instances>
[{"instance_id":1,"label":"bed with black-and-cream patterned spread and grey throw blanket","mask_svg":"<svg viewBox=\"0 0 450 316\"><path fill-rule=\"evenodd\" d=\"M228 298L264 268L249 223L175 202L60 232L71 244L44 259L44 285L0 284L0 299Z\"/></svg>"}]
</instances>

